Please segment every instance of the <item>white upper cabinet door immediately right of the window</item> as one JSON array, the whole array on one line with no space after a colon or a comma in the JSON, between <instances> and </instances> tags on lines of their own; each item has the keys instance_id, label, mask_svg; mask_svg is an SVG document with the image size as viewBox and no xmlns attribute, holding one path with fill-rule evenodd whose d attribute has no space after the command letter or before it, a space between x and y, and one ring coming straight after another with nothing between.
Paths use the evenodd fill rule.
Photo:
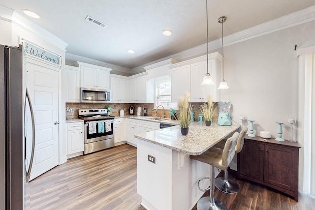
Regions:
<instances>
[{"instance_id":1,"label":"white upper cabinet door immediately right of the window","mask_svg":"<svg viewBox=\"0 0 315 210\"><path fill-rule=\"evenodd\" d=\"M171 73L172 102L178 102L186 92L190 92L190 65L173 68Z\"/></svg>"}]
</instances>

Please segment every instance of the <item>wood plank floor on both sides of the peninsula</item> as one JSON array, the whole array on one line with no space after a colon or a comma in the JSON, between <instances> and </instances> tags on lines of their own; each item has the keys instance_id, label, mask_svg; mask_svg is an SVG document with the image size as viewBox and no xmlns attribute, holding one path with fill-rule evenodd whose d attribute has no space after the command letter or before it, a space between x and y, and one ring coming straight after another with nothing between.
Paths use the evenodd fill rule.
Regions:
<instances>
[{"instance_id":1,"label":"wood plank floor on both sides of the peninsula","mask_svg":"<svg viewBox=\"0 0 315 210\"><path fill-rule=\"evenodd\" d=\"M136 190L136 168L136 148L126 144L75 157L30 182L29 209L145 210ZM315 210L315 199L301 193L297 203L264 186L234 177L230 173L240 192L215 192L229 210Z\"/></svg>"}]
</instances>

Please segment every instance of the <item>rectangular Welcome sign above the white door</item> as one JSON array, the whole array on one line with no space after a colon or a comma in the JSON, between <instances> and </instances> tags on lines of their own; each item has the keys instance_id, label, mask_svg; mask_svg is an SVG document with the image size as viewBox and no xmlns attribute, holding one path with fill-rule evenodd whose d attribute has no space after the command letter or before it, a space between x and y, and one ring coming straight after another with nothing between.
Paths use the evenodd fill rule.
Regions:
<instances>
[{"instance_id":1,"label":"rectangular Welcome sign above the white door","mask_svg":"<svg viewBox=\"0 0 315 210\"><path fill-rule=\"evenodd\" d=\"M23 54L24 56L29 56L35 60L46 62L61 68L61 56L25 40L23 41Z\"/></svg>"}]
</instances>

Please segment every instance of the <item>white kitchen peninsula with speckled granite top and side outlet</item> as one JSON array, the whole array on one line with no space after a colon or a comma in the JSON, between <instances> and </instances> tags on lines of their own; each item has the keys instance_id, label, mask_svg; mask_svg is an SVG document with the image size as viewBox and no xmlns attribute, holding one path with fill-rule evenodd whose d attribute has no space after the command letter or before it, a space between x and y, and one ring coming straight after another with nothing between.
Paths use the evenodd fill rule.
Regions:
<instances>
[{"instance_id":1,"label":"white kitchen peninsula with speckled granite top and side outlet","mask_svg":"<svg viewBox=\"0 0 315 210\"><path fill-rule=\"evenodd\" d=\"M197 182L209 177L210 167L189 155L202 154L238 128L235 124L207 127L204 122L191 122L187 136L181 134L179 126L135 135L141 205L148 210L191 209L203 194ZM208 186L209 181L201 183L203 188Z\"/></svg>"}]
</instances>

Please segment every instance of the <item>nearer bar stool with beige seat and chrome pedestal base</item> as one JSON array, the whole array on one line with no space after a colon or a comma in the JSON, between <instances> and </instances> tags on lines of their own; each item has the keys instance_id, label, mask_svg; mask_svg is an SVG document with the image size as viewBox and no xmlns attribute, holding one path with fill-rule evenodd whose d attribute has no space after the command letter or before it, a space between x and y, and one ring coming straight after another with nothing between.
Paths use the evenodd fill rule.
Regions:
<instances>
[{"instance_id":1,"label":"nearer bar stool with beige seat and chrome pedestal base","mask_svg":"<svg viewBox=\"0 0 315 210\"><path fill-rule=\"evenodd\" d=\"M214 167L225 170L230 164L231 160L235 155L235 145L237 138L239 136L238 132L235 132L232 137L228 138L225 142L224 148L210 148L204 153L194 156L190 155L191 159L198 160L210 165L210 178L201 178L199 182L204 179L210 179L210 187L207 189L200 189L201 191L210 190L210 197L200 198L197 202L197 210L226 210L225 205L218 199L214 197L215 195L215 172Z\"/></svg>"}]
</instances>

